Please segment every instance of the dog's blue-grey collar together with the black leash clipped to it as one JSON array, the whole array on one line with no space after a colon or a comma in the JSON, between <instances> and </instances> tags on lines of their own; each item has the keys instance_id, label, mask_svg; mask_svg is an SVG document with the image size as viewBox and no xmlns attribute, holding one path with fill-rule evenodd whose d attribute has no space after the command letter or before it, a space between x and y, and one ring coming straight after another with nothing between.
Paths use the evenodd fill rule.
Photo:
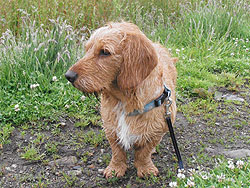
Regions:
<instances>
[{"instance_id":1,"label":"dog's blue-grey collar together with the black leash clipped to it","mask_svg":"<svg viewBox=\"0 0 250 188\"><path fill-rule=\"evenodd\" d=\"M180 154L180 151L179 151L179 148L177 145L177 141L176 141L176 138L174 135L174 129L173 129L172 122L171 122L171 112L170 112L169 108L172 104L172 100L171 100L170 96L171 96L171 90L164 85L164 91L160 97L158 97L157 99L146 104L142 111L134 110L133 112L129 113L128 116L136 116L136 115L148 112L148 111L152 110L153 108L161 106L164 103L164 101L166 100L166 123L168 125L170 137L171 137L171 140L172 140L173 145L174 145L175 153L176 153L176 156L178 159L179 168L184 169L183 162L181 159L181 154Z\"/></svg>"}]
</instances>

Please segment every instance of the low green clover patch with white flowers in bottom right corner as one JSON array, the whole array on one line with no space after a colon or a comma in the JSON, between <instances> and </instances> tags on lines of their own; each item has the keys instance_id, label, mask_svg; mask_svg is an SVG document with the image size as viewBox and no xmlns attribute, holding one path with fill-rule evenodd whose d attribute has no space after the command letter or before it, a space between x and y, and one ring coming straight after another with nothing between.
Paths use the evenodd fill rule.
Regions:
<instances>
[{"instance_id":1,"label":"low green clover patch with white flowers in bottom right corner","mask_svg":"<svg viewBox=\"0 0 250 188\"><path fill-rule=\"evenodd\" d=\"M186 174L186 175L185 175ZM179 172L169 186L176 187L248 187L250 175L248 161L218 160L216 167L209 172L202 169L189 169Z\"/></svg>"}]
</instances>

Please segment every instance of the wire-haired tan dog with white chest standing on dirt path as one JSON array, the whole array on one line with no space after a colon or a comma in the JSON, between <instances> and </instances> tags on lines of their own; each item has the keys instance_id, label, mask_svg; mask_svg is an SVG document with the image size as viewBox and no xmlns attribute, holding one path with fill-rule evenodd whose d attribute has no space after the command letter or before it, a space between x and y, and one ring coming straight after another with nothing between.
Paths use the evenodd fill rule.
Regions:
<instances>
[{"instance_id":1,"label":"wire-haired tan dog with white chest standing on dirt path","mask_svg":"<svg viewBox=\"0 0 250 188\"><path fill-rule=\"evenodd\" d=\"M65 74L84 93L101 94L103 128L112 149L104 176L121 177L127 169L126 151L133 148L137 175L158 175L151 155L168 131L164 105L143 112L164 85L171 90L171 120L176 118L175 87L178 58L149 40L128 22L97 29L85 45L85 56ZM137 115L130 115L134 111Z\"/></svg>"}]
</instances>

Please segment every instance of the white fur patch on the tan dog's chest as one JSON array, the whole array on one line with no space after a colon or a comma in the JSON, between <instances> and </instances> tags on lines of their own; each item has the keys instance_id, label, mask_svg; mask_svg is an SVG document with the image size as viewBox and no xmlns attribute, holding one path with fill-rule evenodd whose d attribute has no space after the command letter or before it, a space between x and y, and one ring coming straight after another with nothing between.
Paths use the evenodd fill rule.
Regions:
<instances>
[{"instance_id":1,"label":"white fur patch on the tan dog's chest","mask_svg":"<svg viewBox=\"0 0 250 188\"><path fill-rule=\"evenodd\" d=\"M136 141L141 138L141 136L131 134L130 126L127 124L125 119L125 110L123 109L123 105L121 103L118 103L114 110L117 113L118 126L116 129L116 134L119 138L119 143L124 147L125 150L128 150Z\"/></svg>"}]
</instances>

